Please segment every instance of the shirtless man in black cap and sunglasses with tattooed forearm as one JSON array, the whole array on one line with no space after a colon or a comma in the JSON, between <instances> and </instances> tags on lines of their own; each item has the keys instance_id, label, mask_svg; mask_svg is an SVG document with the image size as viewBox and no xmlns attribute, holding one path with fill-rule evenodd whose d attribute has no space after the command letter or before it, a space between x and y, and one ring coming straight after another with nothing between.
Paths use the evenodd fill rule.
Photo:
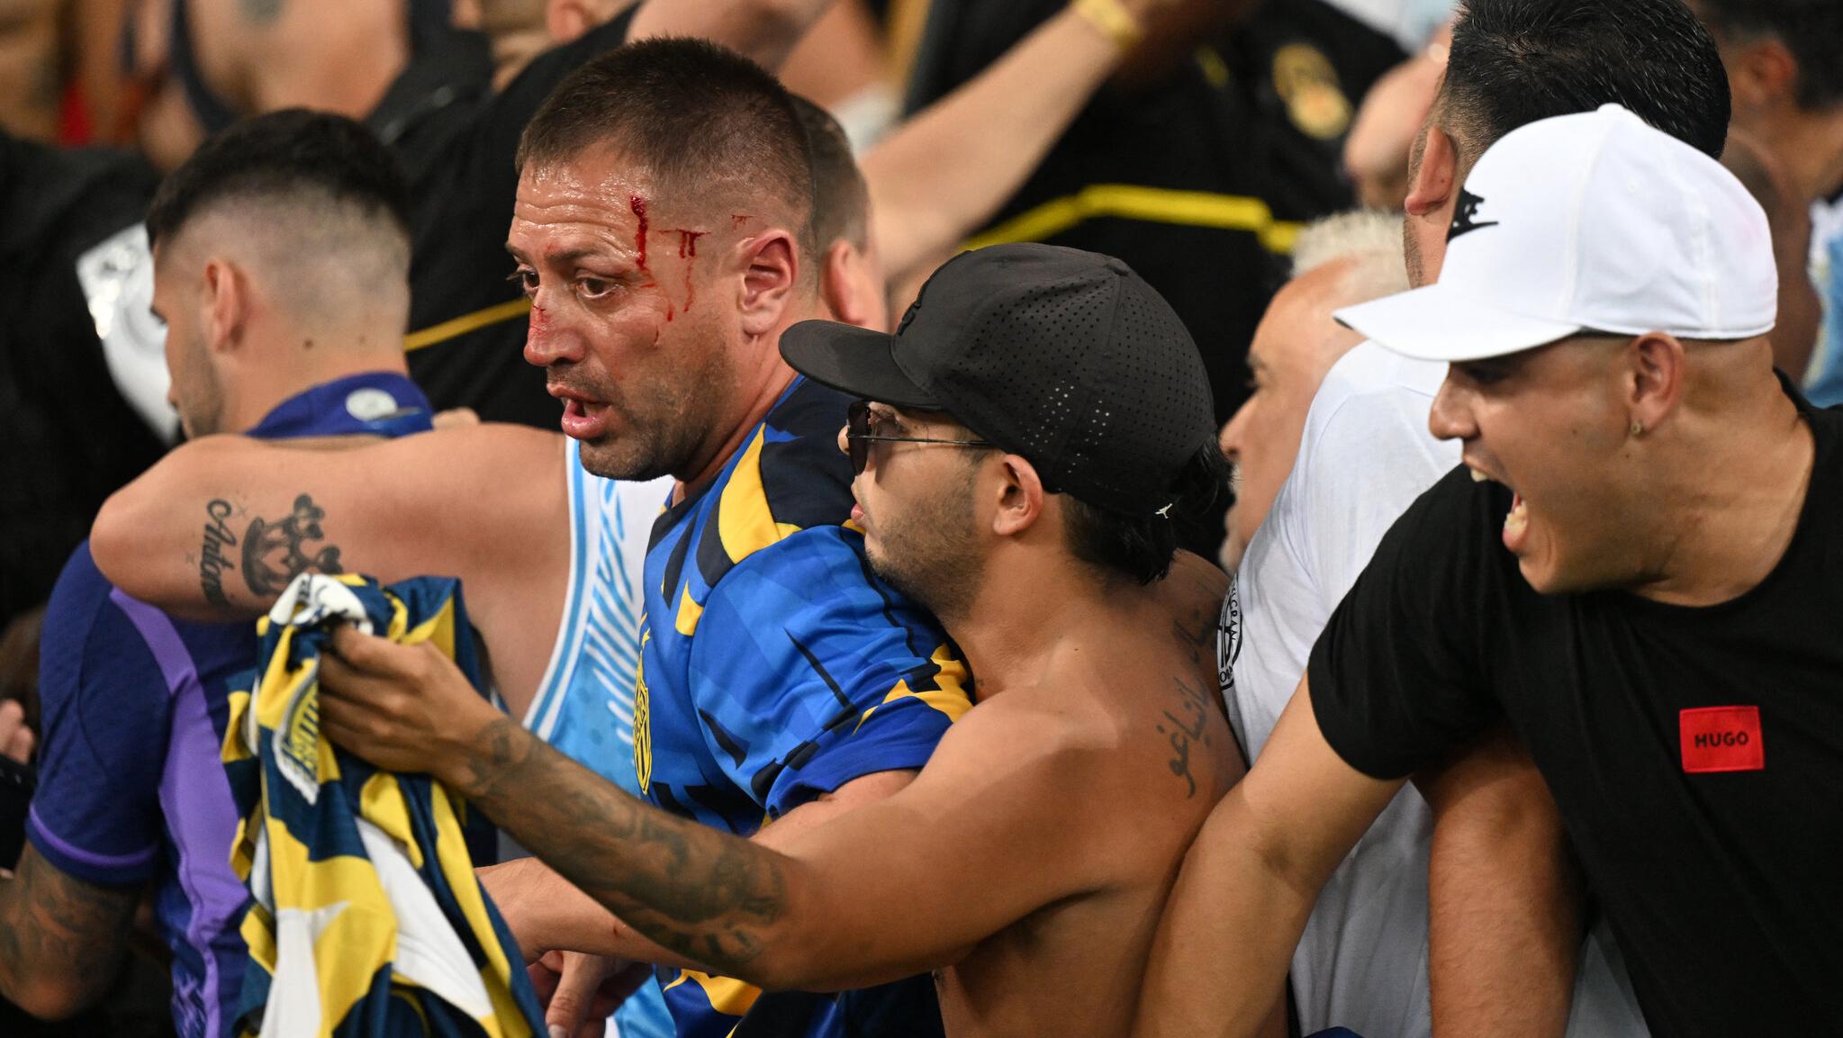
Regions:
<instances>
[{"instance_id":1,"label":"shirtless man in black cap and sunglasses with tattooed forearm","mask_svg":"<svg viewBox=\"0 0 1843 1038\"><path fill-rule=\"evenodd\" d=\"M522 868L496 896L527 951L765 988L940 970L955 1038L1122 1034L1176 863L1242 773L1205 651L1224 579L1189 557L1167 577L1168 513L1224 472L1196 347L1119 260L1001 245L942 267L898 336L804 323L781 352L874 400L839 439L853 524L979 673L912 784L772 848L743 841L627 796L459 671L354 631L323 664L323 725L440 776L619 916Z\"/></svg>"}]
</instances>

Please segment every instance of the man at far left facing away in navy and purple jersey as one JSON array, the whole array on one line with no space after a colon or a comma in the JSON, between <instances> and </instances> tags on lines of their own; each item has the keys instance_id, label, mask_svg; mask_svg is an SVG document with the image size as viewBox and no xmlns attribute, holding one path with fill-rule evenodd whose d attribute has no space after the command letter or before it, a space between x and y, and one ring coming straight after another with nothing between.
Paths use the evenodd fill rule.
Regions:
<instances>
[{"instance_id":1,"label":"man at far left facing away in navy and purple jersey","mask_svg":"<svg viewBox=\"0 0 1843 1038\"><path fill-rule=\"evenodd\" d=\"M365 127L282 111L206 142L155 195L155 306L190 435L398 437L429 428L404 372L409 221L402 173ZM273 544L205 509L205 592L317 555L317 505ZM197 524L194 524L197 525ZM221 597L221 594L219 594ZM247 623L168 618L114 590L79 546L41 649L44 734L18 876L0 883L0 992L68 1016L114 979L153 881L173 950L173 1021L234 1032L245 948L236 828L217 765L229 680L256 662Z\"/></svg>"}]
</instances>

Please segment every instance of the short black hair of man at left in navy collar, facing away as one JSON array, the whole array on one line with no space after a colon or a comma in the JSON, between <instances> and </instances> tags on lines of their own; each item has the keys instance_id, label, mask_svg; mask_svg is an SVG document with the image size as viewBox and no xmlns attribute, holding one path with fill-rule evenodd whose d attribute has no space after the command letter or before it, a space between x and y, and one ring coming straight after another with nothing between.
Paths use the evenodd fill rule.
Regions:
<instances>
[{"instance_id":1,"label":"short black hair of man at left in navy collar, facing away","mask_svg":"<svg viewBox=\"0 0 1843 1038\"><path fill-rule=\"evenodd\" d=\"M160 183L147 208L147 243L173 240L230 201L346 206L400 232L407 256L404 173L376 135L345 116L282 109L212 136Z\"/></svg>"}]
</instances>

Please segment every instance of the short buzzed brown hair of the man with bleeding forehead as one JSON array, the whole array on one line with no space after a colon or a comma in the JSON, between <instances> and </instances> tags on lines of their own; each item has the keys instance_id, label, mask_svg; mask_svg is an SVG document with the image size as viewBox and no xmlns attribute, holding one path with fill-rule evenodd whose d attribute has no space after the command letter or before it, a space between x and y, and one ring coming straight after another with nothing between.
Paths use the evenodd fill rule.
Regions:
<instances>
[{"instance_id":1,"label":"short buzzed brown hair of the man with bleeding forehead","mask_svg":"<svg viewBox=\"0 0 1843 1038\"><path fill-rule=\"evenodd\" d=\"M787 206L813 254L813 173L792 96L754 61L698 39L647 39L603 53L546 98L518 142L518 170L595 146L645 166L667 195L732 186Z\"/></svg>"}]
</instances>

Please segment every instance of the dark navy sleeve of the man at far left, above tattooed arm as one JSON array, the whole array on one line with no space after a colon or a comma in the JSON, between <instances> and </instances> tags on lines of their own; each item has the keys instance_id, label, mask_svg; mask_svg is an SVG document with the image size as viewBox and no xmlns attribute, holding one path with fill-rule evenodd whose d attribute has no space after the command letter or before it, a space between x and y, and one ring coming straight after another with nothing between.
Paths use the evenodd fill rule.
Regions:
<instances>
[{"instance_id":1,"label":"dark navy sleeve of the man at far left, above tattooed arm","mask_svg":"<svg viewBox=\"0 0 1843 1038\"><path fill-rule=\"evenodd\" d=\"M170 701L153 651L109 592L88 546L77 548L39 643L44 732L26 839L77 879L135 885L160 852Z\"/></svg>"}]
</instances>

